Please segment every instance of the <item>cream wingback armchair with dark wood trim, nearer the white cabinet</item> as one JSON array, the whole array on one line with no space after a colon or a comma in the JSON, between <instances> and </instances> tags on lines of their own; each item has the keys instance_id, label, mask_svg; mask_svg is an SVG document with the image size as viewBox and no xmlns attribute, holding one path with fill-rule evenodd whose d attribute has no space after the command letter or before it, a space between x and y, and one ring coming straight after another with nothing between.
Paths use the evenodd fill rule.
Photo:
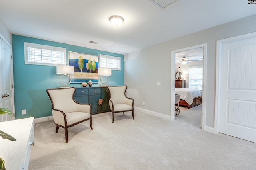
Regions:
<instances>
[{"instance_id":1,"label":"cream wingback armchair with dark wood trim, nearer the white cabinet","mask_svg":"<svg viewBox=\"0 0 256 170\"><path fill-rule=\"evenodd\" d=\"M68 127L90 120L92 129L92 107L90 104L79 104L74 101L76 89L58 88L47 89L46 92L52 102L52 116L56 124L56 132L59 127L65 129L65 139L68 142Z\"/></svg>"}]
</instances>

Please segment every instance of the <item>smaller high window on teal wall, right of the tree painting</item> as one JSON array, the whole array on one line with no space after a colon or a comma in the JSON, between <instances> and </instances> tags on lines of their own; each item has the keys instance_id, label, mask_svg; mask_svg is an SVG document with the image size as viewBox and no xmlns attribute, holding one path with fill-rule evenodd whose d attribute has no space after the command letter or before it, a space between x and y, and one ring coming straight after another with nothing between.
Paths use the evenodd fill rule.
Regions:
<instances>
[{"instance_id":1,"label":"smaller high window on teal wall, right of the tree painting","mask_svg":"<svg viewBox=\"0 0 256 170\"><path fill-rule=\"evenodd\" d=\"M121 58L110 55L100 55L100 67L111 68L111 70L121 70Z\"/></svg>"}]
</instances>

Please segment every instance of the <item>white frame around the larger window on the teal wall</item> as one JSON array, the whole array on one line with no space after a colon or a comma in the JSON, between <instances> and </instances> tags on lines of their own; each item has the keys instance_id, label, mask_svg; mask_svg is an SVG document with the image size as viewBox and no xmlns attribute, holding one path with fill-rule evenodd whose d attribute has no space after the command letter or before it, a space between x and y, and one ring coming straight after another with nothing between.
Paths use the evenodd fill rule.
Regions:
<instances>
[{"instance_id":1,"label":"white frame around the larger window on the teal wall","mask_svg":"<svg viewBox=\"0 0 256 170\"><path fill-rule=\"evenodd\" d=\"M36 48L36 49L44 49L44 50L50 50L50 51L63 52L63 63L29 62L28 61L28 48ZM24 42L24 59L25 59L25 64L44 65L44 66L56 66L57 64L66 65L66 48Z\"/></svg>"}]
</instances>

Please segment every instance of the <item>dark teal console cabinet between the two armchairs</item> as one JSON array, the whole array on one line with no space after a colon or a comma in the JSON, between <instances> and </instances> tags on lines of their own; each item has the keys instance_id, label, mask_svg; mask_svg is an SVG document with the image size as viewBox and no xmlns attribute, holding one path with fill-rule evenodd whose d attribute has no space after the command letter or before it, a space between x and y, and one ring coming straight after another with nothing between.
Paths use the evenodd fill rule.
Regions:
<instances>
[{"instance_id":1,"label":"dark teal console cabinet between the two armchairs","mask_svg":"<svg viewBox=\"0 0 256 170\"><path fill-rule=\"evenodd\" d=\"M76 102L91 104L92 114L110 111L109 97L110 93L107 87L76 88L76 93L74 94L74 100ZM102 99L101 105L98 103L100 99Z\"/></svg>"}]
</instances>

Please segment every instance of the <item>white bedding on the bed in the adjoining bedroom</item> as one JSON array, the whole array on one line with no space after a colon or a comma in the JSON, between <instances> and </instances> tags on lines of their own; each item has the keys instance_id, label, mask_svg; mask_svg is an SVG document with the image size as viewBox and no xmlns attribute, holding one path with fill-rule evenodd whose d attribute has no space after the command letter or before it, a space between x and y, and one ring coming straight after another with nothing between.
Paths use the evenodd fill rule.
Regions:
<instances>
[{"instance_id":1,"label":"white bedding on the bed in the adjoining bedroom","mask_svg":"<svg viewBox=\"0 0 256 170\"><path fill-rule=\"evenodd\" d=\"M193 88L175 88L175 94L179 94L180 99L185 100L189 105L193 103L193 98L202 96L200 90Z\"/></svg>"}]
</instances>

